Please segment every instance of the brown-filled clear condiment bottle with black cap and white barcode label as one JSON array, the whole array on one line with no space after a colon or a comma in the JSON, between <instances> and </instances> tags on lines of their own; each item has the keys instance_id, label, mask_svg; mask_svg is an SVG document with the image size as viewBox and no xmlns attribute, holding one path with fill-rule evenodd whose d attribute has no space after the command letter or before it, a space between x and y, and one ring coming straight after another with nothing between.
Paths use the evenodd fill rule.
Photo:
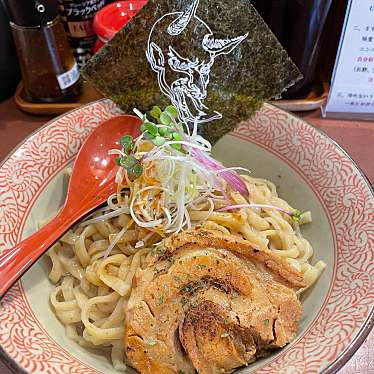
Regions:
<instances>
[{"instance_id":1,"label":"brown-filled clear condiment bottle with black cap and white barcode label","mask_svg":"<svg viewBox=\"0 0 374 374\"><path fill-rule=\"evenodd\" d=\"M79 70L55 0L8 0L10 26L30 101L63 101L79 94Z\"/></svg>"}]
</instances>

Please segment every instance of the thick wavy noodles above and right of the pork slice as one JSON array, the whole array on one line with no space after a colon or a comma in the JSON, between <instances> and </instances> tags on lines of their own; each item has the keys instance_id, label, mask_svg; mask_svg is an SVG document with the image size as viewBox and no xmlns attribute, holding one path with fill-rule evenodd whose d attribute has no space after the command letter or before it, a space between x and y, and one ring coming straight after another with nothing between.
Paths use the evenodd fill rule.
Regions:
<instances>
[{"instance_id":1,"label":"thick wavy noodles above and right of the pork slice","mask_svg":"<svg viewBox=\"0 0 374 374\"><path fill-rule=\"evenodd\" d=\"M238 192L230 192L229 197L234 203L271 205L285 211L293 210L278 196L272 182L247 175L243 175L242 178L246 182L249 197L245 199ZM205 208L208 206L206 205ZM205 228L237 235L260 249L269 249L285 257L289 264L304 276L307 286L300 292L309 288L326 267L323 261L318 261L315 265L310 263L314 253L313 247L300 231L300 225L312 221L310 212L304 213L299 223L294 222L289 215L273 208L241 208L235 213L217 211L209 213L208 210L201 209L191 212L190 216L195 223L200 221Z\"/></svg>"}]
</instances>

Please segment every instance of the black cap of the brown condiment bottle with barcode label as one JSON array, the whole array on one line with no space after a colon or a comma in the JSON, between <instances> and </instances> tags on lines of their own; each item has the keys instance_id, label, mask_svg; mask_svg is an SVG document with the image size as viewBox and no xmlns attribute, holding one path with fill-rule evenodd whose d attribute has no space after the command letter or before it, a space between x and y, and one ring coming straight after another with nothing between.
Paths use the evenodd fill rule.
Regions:
<instances>
[{"instance_id":1,"label":"black cap of the brown condiment bottle with barcode label","mask_svg":"<svg viewBox=\"0 0 374 374\"><path fill-rule=\"evenodd\" d=\"M57 0L6 0L11 22L35 27L53 21L58 15Z\"/></svg>"}]
</instances>

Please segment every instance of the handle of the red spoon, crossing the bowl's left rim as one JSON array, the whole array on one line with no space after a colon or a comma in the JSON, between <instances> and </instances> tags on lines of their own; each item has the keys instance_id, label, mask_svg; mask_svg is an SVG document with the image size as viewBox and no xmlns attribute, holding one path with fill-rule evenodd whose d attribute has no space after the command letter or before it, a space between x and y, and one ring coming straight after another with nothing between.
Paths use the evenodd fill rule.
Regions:
<instances>
[{"instance_id":1,"label":"handle of the red spoon, crossing the bowl's left rim","mask_svg":"<svg viewBox=\"0 0 374 374\"><path fill-rule=\"evenodd\" d=\"M40 230L18 243L15 247L0 252L0 299L30 266L53 244L76 217L66 217L61 211Z\"/></svg>"}]
</instances>

